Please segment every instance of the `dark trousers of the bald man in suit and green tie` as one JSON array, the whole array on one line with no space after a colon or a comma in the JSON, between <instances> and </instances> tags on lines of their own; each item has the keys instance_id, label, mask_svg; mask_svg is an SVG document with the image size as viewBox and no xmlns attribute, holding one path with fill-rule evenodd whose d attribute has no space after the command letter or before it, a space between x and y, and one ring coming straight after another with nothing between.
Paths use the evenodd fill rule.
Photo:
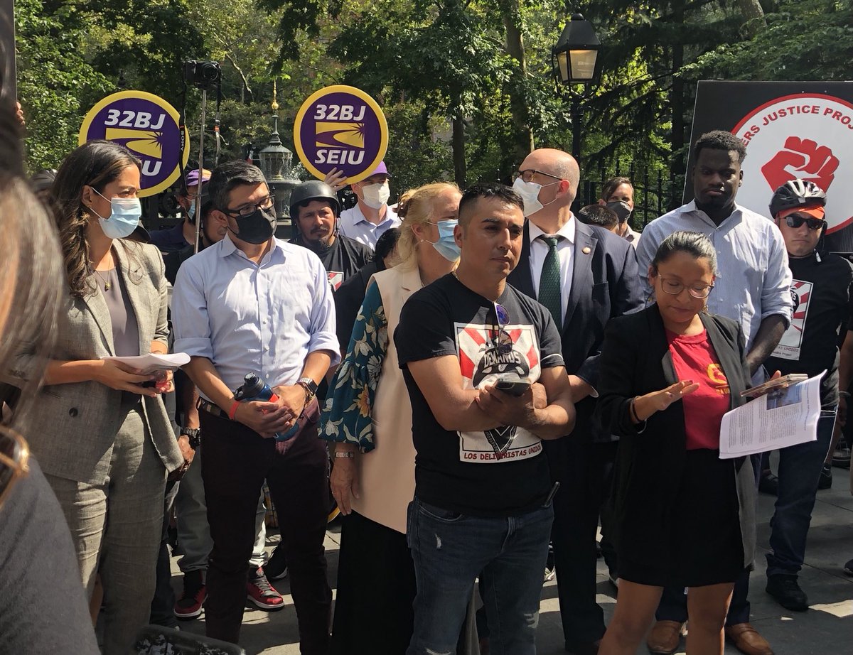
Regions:
<instances>
[{"instance_id":1,"label":"dark trousers of the bald man in suit and green tie","mask_svg":"<svg viewBox=\"0 0 853 655\"><path fill-rule=\"evenodd\" d=\"M595 602L595 533L610 491L618 442L593 443L572 434L543 443L551 478L560 482L551 542L563 635L567 646L597 641L605 625L604 612Z\"/></svg>"}]
</instances>

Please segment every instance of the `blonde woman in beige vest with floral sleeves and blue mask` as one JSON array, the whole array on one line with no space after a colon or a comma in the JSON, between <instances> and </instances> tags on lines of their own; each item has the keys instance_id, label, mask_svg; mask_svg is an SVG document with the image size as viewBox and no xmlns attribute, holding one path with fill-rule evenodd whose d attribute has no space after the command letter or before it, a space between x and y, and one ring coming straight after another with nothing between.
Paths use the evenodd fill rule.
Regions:
<instances>
[{"instance_id":1,"label":"blonde woman in beige vest with floral sleeves and blue mask","mask_svg":"<svg viewBox=\"0 0 853 655\"><path fill-rule=\"evenodd\" d=\"M405 533L415 447L393 333L409 296L456 266L460 199L450 183L403 194L399 263L370 282L327 401L322 436L335 442L331 486L345 515L333 653L402 655L409 646L415 570Z\"/></svg>"}]
</instances>

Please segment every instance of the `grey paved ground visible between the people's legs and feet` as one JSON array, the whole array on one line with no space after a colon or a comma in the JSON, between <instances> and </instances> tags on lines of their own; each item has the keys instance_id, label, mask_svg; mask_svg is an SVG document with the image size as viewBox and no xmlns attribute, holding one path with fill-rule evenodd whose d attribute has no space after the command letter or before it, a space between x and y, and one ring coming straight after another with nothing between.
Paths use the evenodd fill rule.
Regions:
<instances>
[{"instance_id":1,"label":"grey paved ground visible between the people's legs and feet","mask_svg":"<svg viewBox=\"0 0 853 655\"><path fill-rule=\"evenodd\" d=\"M809 594L811 608L808 612L787 612L764 592L763 553L768 548L768 523L773 514L775 498L763 494L759 498L758 550L762 556L758 558L757 570L752 574L751 622L769 640L776 655L853 653L853 578L846 577L842 571L844 562L853 558L853 497L850 496L847 484L847 472L836 468L833 473L833 489L818 492L809 531L806 565L800 576L800 584ZM329 580L333 588L338 564L338 538L338 529L333 526L326 538ZM268 549L271 550L277 541L277 535L268 536ZM604 607L606 620L609 620L616 603L616 594L607 581L606 567L601 560L599 562L598 601ZM172 583L179 589L181 578L175 559L172 559L172 571ZM276 587L282 594L287 594L287 579L282 580ZM242 646L247 655L298 655L296 615L292 599L289 595L286 599L286 606L280 612L247 609L241 635ZM555 582L547 583L543 587L541 608L538 652L540 655L565 652ZM204 614L196 621L182 623L181 628L203 632ZM646 652L645 648L638 651ZM727 645L726 655L734 653L737 653L737 650Z\"/></svg>"}]
</instances>

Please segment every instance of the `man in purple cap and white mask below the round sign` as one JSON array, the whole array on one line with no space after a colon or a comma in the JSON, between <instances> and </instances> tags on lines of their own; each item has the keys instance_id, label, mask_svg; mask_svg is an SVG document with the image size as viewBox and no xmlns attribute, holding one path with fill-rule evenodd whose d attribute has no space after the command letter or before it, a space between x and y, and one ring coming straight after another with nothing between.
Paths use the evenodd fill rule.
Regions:
<instances>
[{"instance_id":1,"label":"man in purple cap and white mask below the round sign","mask_svg":"<svg viewBox=\"0 0 853 655\"><path fill-rule=\"evenodd\" d=\"M375 250L376 241L392 228L400 226L392 207L388 206L391 191L388 188L388 168L380 162L376 170L361 182L352 183L352 192L356 194L356 206L340 212L338 229L340 234Z\"/></svg>"}]
</instances>

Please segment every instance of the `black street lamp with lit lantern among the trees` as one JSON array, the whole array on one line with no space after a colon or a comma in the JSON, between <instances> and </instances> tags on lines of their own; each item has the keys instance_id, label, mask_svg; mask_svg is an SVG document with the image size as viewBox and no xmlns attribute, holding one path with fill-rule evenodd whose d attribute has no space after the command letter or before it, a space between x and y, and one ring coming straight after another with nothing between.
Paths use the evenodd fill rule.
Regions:
<instances>
[{"instance_id":1,"label":"black street lamp with lit lantern among the trees","mask_svg":"<svg viewBox=\"0 0 853 655\"><path fill-rule=\"evenodd\" d=\"M589 20L581 14L572 14L554 48L551 49L551 67L554 81L566 84L572 98L572 155L581 154L581 107L589 94L589 84L595 81L596 64L601 41ZM577 85L583 90L578 91Z\"/></svg>"}]
</instances>

